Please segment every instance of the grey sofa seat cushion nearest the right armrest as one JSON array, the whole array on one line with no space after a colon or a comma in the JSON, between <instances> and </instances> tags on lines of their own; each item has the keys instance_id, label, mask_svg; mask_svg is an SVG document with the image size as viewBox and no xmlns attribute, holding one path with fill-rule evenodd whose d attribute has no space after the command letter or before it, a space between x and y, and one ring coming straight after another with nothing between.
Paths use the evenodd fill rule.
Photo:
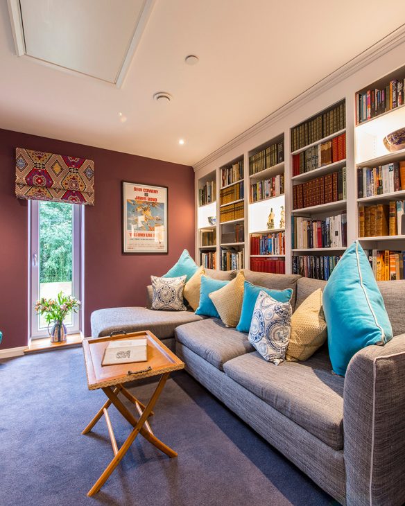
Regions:
<instances>
[{"instance_id":1,"label":"grey sofa seat cushion nearest the right armrest","mask_svg":"<svg viewBox=\"0 0 405 506\"><path fill-rule=\"evenodd\" d=\"M343 448L344 378L331 374L327 347L304 363L277 367L257 351L225 363L225 374L322 442Z\"/></svg>"}]
</instances>

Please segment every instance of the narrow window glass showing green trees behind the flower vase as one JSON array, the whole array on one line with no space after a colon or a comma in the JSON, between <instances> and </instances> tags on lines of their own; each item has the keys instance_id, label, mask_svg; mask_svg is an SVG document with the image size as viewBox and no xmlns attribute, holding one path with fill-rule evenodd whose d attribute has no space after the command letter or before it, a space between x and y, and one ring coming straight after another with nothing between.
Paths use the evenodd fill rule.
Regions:
<instances>
[{"instance_id":1,"label":"narrow window glass showing green trees behind the flower vase","mask_svg":"<svg viewBox=\"0 0 405 506\"><path fill-rule=\"evenodd\" d=\"M72 295L73 204L40 202L40 297ZM64 324L72 322L71 313ZM40 317L40 328L46 328Z\"/></svg>"}]
</instances>

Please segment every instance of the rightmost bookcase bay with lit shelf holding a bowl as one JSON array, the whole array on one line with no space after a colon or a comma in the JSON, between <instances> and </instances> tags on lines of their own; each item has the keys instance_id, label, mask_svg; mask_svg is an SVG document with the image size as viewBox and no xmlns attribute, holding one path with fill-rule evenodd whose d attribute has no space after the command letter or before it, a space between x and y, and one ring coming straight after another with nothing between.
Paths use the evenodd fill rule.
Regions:
<instances>
[{"instance_id":1,"label":"rightmost bookcase bay with lit shelf holding a bowl","mask_svg":"<svg viewBox=\"0 0 405 506\"><path fill-rule=\"evenodd\" d=\"M405 127L405 67L356 93L357 234L377 280L404 279L405 149L384 137Z\"/></svg>"}]
</instances>

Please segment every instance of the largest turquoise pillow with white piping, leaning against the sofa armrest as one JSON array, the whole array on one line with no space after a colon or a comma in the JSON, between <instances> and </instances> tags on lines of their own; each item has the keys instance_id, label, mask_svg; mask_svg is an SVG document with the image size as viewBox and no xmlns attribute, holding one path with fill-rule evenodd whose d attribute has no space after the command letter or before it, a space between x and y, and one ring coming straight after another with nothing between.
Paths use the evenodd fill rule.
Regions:
<instances>
[{"instance_id":1,"label":"largest turquoise pillow with white piping, leaning against the sofa armrest","mask_svg":"<svg viewBox=\"0 0 405 506\"><path fill-rule=\"evenodd\" d=\"M334 373L345 376L357 351L393 338L384 299L359 241L348 247L338 261L322 302Z\"/></svg>"}]
</instances>

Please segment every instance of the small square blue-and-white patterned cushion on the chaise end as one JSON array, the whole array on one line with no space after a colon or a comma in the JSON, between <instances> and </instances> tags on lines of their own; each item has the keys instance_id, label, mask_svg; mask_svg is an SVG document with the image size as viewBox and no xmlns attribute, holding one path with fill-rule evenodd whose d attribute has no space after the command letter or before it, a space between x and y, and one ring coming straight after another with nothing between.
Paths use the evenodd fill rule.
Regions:
<instances>
[{"instance_id":1,"label":"small square blue-and-white patterned cushion on the chaise end","mask_svg":"<svg viewBox=\"0 0 405 506\"><path fill-rule=\"evenodd\" d=\"M153 289L152 309L163 311L187 311L183 304L183 290L187 276L150 276Z\"/></svg>"}]
</instances>

